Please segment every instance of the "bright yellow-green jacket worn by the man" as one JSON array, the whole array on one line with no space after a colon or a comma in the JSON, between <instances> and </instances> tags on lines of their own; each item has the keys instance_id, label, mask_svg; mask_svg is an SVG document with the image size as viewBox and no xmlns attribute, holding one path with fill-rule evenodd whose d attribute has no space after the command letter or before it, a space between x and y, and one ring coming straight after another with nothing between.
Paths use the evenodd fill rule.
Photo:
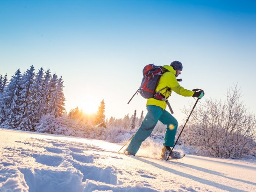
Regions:
<instances>
[{"instance_id":1,"label":"bright yellow-green jacket worn by the man","mask_svg":"<svg viewBox=\"0 0 256 192\"><path fill-rule=\"evenodd\" d=\"M160 78L159 83L156 86L156 92L167 86L171 88L171 90L167 90L168 88L166 88L160 91L160 93L162 93L165 96L165 99L168 99L171 96L172 91L185 97L192 97L194 94L193 91L187 90L179 85L175 76L176 71L172 68L172 66L164 65L163 67L167 69L167 72L165 72L163 76ZM150 98L147 100L147 106L148 105L160 106L162 109L166 108L165 101L157 100L154 98Z\"/></svg>"}]
</instances>

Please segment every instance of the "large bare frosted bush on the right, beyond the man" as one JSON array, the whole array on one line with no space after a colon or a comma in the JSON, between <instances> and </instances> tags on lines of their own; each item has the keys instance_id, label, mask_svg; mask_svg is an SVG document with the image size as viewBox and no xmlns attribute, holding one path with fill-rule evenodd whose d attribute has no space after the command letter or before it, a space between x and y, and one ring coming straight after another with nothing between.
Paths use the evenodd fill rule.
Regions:
<instances>
[{"instance_id":1,"label":"large bare frosted bush on the right, beyond the man","mask_svg":"<svg viewBox=\"0 0 256 192\"><path fill-rule=\"evenodd\" d=\"M241 158L254 153L256 118L239 101L240 90L230 88L227 101L206 99L198 104L189 119L181 142L197 149L200 155ZM188 115L191 109L185 109Z\"/></svg>"}]
</instances>

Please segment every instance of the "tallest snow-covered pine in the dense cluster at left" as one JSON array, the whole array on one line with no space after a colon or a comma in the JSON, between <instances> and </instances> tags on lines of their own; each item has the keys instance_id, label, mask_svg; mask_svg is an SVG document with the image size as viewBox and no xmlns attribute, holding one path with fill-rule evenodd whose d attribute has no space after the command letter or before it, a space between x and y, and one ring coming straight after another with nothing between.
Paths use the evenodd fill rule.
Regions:
<instances>
[{"instance_id":1,"label":"tallest snow-covered pine in the dense cluster at left","mask_svg":"<svg viewBox=\"0 0 256 192\"><path fill-rule=\"evenodd\" d=\"M20 91L20 103L19 103L19 112L16 116L18 130L30 131L33 130L32 126L32 117L34 116L33 112L33 98L32 98L32 89L31 85L34 83L35 68L30 66L30 68L23 74L21 80L21 91ZM31 104L32 103L32 104Z\"/></svg>"}]
</instances>

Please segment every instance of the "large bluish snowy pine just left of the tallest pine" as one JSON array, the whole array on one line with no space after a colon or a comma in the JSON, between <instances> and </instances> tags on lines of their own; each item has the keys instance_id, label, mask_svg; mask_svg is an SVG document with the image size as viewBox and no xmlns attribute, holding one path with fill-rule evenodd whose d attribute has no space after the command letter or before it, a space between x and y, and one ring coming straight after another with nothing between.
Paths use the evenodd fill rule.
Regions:
<instances>
[{"instance_id":1,"label":"large bluish snowy pine just left of the tallest pine","mask_svg":"<svg viewBox=\"0 0 256 192\"><path fill-rule=\"evenodd\" d=\"M14 129L16 127L16 114L19 108L19 94L21 91L21 71L18 69L8 83L4 94L0 97L1 112L0 125Z\"/></svg>"}]
</instances>

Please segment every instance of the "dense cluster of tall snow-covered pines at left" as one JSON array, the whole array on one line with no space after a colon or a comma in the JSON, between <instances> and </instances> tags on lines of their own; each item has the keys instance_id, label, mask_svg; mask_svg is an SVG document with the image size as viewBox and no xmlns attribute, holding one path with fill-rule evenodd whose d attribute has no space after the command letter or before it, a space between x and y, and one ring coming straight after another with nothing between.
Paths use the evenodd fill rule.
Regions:
<instances>
[{"instance_id":1,"label":"dense cluster of tall snow-covered pines at left","mask_svg":"<svg viewBox=\"0 0 256 192\"><path fill-rule=\"evenodd\" d=\"M7 82L7 75L0 75L0 126L34 131L45 115L63 115L64 93L62 77L45 73L34 66L23 74L20 69Z\"/></svg>"}]
</instances>

